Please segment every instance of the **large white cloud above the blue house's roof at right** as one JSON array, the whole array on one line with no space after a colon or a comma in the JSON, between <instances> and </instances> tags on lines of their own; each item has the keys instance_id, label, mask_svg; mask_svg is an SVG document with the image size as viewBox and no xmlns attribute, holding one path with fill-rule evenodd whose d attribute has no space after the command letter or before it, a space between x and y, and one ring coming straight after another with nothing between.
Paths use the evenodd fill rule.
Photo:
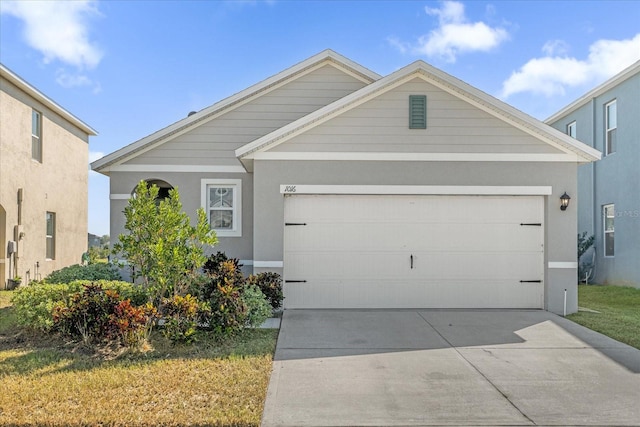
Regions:
<instances>
[{"instance_id":1,"label":"large white cloud above the blue house's roof at right","mask_svg":"<svg viewBox=\"0 0 640 427\"><path fill-rule=\"evenodd\" d=\"M502 97L520 92L563 95L567 87L603 81L640 59L640 33L627 40L598 40L583 60L559 56L557 46L556 41L547 42L543 47L547 56L531 59L514 71L502 84Z\"/></svg>"}]
</instances>

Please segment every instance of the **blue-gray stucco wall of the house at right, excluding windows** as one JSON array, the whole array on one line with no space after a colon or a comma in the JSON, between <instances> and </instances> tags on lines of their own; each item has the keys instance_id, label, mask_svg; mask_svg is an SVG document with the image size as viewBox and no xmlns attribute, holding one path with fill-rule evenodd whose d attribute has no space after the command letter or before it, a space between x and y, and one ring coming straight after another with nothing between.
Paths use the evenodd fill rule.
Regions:
<instances>
[{"instance_id":1,"label":"blue-gray stucco wall of the house at right, excluding windows","mask_svg":"<svg viewBox=\"0 0 640 427\"><path fill-rule=\"evenodd\" d=\"M617 150L604 155L605 104L617 100ZM640 74L551 123L565 132L576 121L577 139L603 152L578 168L578 231L595 236L592 282L640 287ZM615 205L615 256L604 257L603 205ZM583 259L591 260L591 254Z\"/></svg>"}]
</instances>

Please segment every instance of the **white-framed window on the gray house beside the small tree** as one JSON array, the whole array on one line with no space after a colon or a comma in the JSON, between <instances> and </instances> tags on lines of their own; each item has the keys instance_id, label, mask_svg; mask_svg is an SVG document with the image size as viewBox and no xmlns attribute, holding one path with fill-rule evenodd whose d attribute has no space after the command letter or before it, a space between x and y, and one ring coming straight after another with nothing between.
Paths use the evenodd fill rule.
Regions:
<instances>
[{"instance_id":1,"label":"white-framed window on the gray house beside the small tree","mask_svg":"<svg viewBox=\"0 0 640 427\"><path fill-rule=\"evenodd\" d=\"M242 180L203 179L202 204L218 236L242 236Z\"/></svg>"}]
</instances>

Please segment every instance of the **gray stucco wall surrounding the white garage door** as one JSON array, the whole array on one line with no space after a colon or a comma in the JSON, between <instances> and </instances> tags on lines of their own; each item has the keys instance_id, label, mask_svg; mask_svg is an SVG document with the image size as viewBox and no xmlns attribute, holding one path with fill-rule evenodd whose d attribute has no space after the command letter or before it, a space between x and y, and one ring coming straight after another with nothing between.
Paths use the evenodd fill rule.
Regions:
<instances>
[{"instance_id":1,"label":"gray stucco wall surrounding the white garage door","mask_svg":"<svg viewBox=\"0 0 640 427\"><path fill-rule=\"evenodd\" d=\"M577 216L576 168L573 163L526 162L254 162L254 260L282 261L284 196L280 185L474 185L551 186L545 197L545 308L577 311L575 268L546 268L548 262L575 262ZM567 192L572 205L560 211ZM255 269L261 271L261 269ZM272 269L280 271L281 269Z\"/></svg>"}]
</instances>

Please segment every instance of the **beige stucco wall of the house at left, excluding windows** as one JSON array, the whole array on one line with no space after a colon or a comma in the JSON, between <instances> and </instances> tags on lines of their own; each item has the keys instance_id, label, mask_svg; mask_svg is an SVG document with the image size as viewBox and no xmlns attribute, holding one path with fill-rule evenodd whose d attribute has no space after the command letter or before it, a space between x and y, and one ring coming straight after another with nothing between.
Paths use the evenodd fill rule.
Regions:
<instances>
[{"instance_id":1,"label":"beige stucco wall of the house at left, excluding windows","mask_svg":"<svg viewBox=\"0 0 640 427\"><path fill-rule=\"evenodd\" d=\"M79 263L87 250L88 135L7 80L2 79L1 86L0 205L6 211L2 234L6 240L16 237L17 193L22 188L24 234L18 240L17 271L12 275L21 276L24 283ZM42 163L31 158L32 109L42 114ZM53 260L45 257L46 212L56 214ZM5 259L2 284L9 270L5 239L0 242L0 257Z\"/></svg>"}]
</instances>

